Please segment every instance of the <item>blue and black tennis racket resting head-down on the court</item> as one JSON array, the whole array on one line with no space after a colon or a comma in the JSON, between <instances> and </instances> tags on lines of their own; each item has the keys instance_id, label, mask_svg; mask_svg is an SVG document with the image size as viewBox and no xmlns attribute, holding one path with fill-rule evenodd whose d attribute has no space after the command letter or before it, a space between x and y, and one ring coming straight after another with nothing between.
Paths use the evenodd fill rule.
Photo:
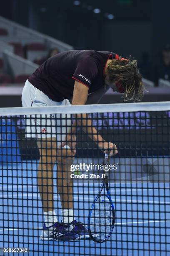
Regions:
<instances>
[{"instance_id":1,"label":"blue and black tennis racket resting head-down on the court","mask_svg":"<svg viewBox=\"0 0 170 256\"><path fill-rule=\"evenodd\" d=\"M103 164L109 164L109 155L105 154ZM102 194L105 186L107 195ZM102 180L100 191L92 204L88 216L88 231L89 236L97 243L107 241L113 231L115 225L115 209L110 197L108 186L108 174L105 172L105 177Z\"/></svg>"}]
</instances>

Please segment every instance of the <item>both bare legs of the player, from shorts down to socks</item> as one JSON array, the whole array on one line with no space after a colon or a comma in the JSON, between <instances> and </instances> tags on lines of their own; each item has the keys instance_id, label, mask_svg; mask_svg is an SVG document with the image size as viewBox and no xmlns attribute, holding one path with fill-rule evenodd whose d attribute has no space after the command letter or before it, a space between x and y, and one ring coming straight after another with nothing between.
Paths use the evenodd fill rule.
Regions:
<instances>
[{"instance_id":1,"label":"both bare legs of the player, from shorts down to socks","mask_svg":"<svg viewBox=\"0 0 170 256\"><path fill-rule=\"evenodd\" d=\"M40 150L38 188L44 212L53 213L54 211L52 172L56 161L59 163L57 165L57 191L60 194L62 209L73 209L72 179L70 179L69 170L69 164L72 163L71 150L59 149L57 151L56 138L42 139L37 142L37 146Z\"/></svg>"}]
</instances>

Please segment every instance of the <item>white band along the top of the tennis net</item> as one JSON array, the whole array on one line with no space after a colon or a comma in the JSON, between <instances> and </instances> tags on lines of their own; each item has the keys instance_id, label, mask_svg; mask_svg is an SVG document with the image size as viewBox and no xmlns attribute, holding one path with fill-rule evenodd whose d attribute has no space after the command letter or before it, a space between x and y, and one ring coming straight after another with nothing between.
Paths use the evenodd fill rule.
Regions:
<instances>
[{"instance_id":1,"label":"white band along the top of the tennis net","mask_svg":"<svg viewBox=\"0 0 170 256\"><path fill-rule=\"evenodd\" d=\"M0 116L4 115L32 115L32 114L82 114L106 112L138 112L138 111L168 111L170 101L164 102L138 102L97 105L67 105L30 108L0 108Z\"/></svg>"}]
</instances>

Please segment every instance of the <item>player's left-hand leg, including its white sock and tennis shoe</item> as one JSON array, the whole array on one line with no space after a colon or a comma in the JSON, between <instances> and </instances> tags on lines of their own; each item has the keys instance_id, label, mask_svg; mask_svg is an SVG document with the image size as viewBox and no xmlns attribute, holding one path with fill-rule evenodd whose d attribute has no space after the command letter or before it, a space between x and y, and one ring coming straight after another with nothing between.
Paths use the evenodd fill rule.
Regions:
<instances>
[{"instance_id":1,"label":"player's left-hand leg, including its white sock and tennis shoe","mask_svg":"<svg viewBox=\"0 0 170 256\"><path fill-rule=\"evenodd\" d=\"M38 187L44 210L45 225L40 236L41 240L62 240L74 241L79 238L79 234L70 232L65 228L63 223L57 221L57 216L54 210L53 201L53 167L57 160L56 138L48 138L46 141L38 141L37 145L40 149L40 164L38 167ZM64 152L66 149L64 150ZM65 152L66 154L66 152ZM59 158L62 159L62 158ZM61 161L61 160L60 160ZM65 183L64 183L65 184ZM67 184L62 190L64 200L67 198Z\"/></svg>"}]
</instances>

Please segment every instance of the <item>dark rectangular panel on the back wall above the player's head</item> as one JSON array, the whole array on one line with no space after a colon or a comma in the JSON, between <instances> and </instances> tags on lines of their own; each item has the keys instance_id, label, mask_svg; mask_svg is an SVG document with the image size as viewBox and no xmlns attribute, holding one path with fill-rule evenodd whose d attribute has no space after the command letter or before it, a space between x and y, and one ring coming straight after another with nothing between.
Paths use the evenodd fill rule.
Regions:
<instances>
[{"instance_id":1,"label":"dark rectangular panel on the back wall above the player's head","mask_svg":"<svg viewBox=\"0 0 170 256\"><path fill-rule=\"evenodd\" d=\"M140 59L142 52L152 51L151 32L150 21L105 22L102 26L102 47L122 56L132 54L136 59Z\"/></svg>"}]
</instances>

